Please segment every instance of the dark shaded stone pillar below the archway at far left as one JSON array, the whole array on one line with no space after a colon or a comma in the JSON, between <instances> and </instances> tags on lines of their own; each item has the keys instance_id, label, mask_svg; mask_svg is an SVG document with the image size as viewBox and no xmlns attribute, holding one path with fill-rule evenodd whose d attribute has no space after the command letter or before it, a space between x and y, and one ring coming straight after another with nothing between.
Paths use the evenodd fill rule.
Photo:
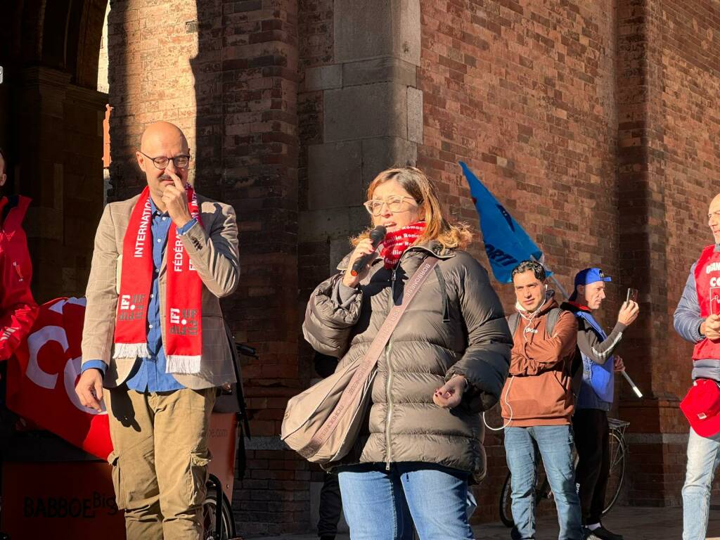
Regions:
<instances>
[{"instance_id":1,"label":"dark shaded stone pillar below the archway at far left","mask_svg":"<svg viewBox=\"0 0 720 540\"><path fill-rule=\"evenodd\" d=\"M51 68L22 71L12 156L19 192L32 197L25 228L39 302L84 294L102 211L102 130L107 96ZM73 209L69 212L68 209Z\"/></svg>"}]
</instances>

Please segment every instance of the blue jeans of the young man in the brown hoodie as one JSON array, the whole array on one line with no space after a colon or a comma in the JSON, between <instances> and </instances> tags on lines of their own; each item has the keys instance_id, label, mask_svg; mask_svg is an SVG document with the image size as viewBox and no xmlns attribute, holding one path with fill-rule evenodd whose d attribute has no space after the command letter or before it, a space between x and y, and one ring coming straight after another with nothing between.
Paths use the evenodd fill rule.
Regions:
<instances>
[{"instance_id":1,"label":"blue jeans of the young man in the brown hoodie","mask_svg":"<svg viewBox=\"0 0 720 540\"><path fill-rule=\"evenodd\" d=\"M582 540L580 499L575 488L570 426L505 428L505 455L512 474L513 540L535 538L535 480L538 454L557 505L559 540Z\"/></svg>"}]
</instances>

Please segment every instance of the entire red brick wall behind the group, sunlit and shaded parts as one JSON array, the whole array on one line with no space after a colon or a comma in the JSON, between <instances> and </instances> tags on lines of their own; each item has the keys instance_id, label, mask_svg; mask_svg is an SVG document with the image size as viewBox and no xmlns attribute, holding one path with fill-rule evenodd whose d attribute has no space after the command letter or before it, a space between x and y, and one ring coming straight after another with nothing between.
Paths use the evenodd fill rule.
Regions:
<instances>
[{"instance_id":1,"label":"entire red brick wall behind the group, sunlit and shaded parts","mask_svg":"<svg viewBox=\"0 0 720 540\"><path fill-rule=\"evenodd\" d=\"M671 318L689 264L709 241L704 214L719 165L714 4L422 0L418 68L397 44L338 37L338 19L354 30L336 17L354 13L346 0L198 4L112 3L110 197L139 191L132 153L143 127L163 119L185 130L199 191L238 212L243 279L224 308L238 341L260 355L243 359L256 436L246 480L235 485L243 534L310 527L308 485L320 473L277 440L287 398L312 375L302 310L364 222L361 187L392 160L417 159L448 215L475 225L456 164L467 161L544 248L564 287L590 264L615 278L606 325L624 287L641 289L644 315L623 352L647 398L634 400L618 383L618 412L633 431L628 496L678 503L686 427L677 403L689 370ZM188 32L193 21L198 30ZM364 125L361 98L386 87L407 106L398 122L409 125L411 102L422 103L421 129L403 133L395 118L383 133ZM338 128L341 118L328 122L343 110L357 133ZM346 168L319 165L333 152ZM347 230L325 234L323 217ZM478 240L473 253L487 264L483 251ZM498 291L510 309L510 287ZM488 420L500 423L494 412ZM497 518L506 472L502 436L487 433L485 444L480 521Z\"/></svg>"}]
</instances>

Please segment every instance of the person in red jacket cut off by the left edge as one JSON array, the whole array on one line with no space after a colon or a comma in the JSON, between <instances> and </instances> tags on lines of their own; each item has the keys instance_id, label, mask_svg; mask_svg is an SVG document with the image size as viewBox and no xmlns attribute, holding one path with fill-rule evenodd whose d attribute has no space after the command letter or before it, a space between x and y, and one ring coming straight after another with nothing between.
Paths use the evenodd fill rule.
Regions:
<instances>
[{"instance_id":1,"label":"person in red jacket cut off by the left edge","mask_svg":"<svg viewBox=\"0 0 720 540\"><path fill-rule=\"evenodd\" d=\"M0 149L0 190L7 181L6 172ZM37 303L30 292L32 264L22 230L29 205L27 197L0 197L0 361L12 356L37 317Z\"/></svg>"}]
</instances>

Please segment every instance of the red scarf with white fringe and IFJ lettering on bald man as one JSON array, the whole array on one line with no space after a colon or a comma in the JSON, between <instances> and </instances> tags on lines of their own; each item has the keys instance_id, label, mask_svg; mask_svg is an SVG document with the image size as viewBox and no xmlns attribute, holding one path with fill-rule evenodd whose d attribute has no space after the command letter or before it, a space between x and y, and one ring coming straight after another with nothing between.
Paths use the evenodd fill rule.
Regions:
<instances>
[{"instance_id":1,"label":"red scarf with white fringe and IFJ lettering on bald man","mask_svg":"<svg viewBox=\"0 0 720 540\"><path fill-rule=\"evenodd\" d=\"M200 221L197 195L187 190L192 217ZM120 297L115 319L114 358L148 358L148 305L153 284L153 220L150 190L146 187L132 209L122 240ZM202 280L192 266L173 223L166 247L166 328L163 336L166 372L193 374L200 371L202 356Z\"/></svg>"}]
</instances>

